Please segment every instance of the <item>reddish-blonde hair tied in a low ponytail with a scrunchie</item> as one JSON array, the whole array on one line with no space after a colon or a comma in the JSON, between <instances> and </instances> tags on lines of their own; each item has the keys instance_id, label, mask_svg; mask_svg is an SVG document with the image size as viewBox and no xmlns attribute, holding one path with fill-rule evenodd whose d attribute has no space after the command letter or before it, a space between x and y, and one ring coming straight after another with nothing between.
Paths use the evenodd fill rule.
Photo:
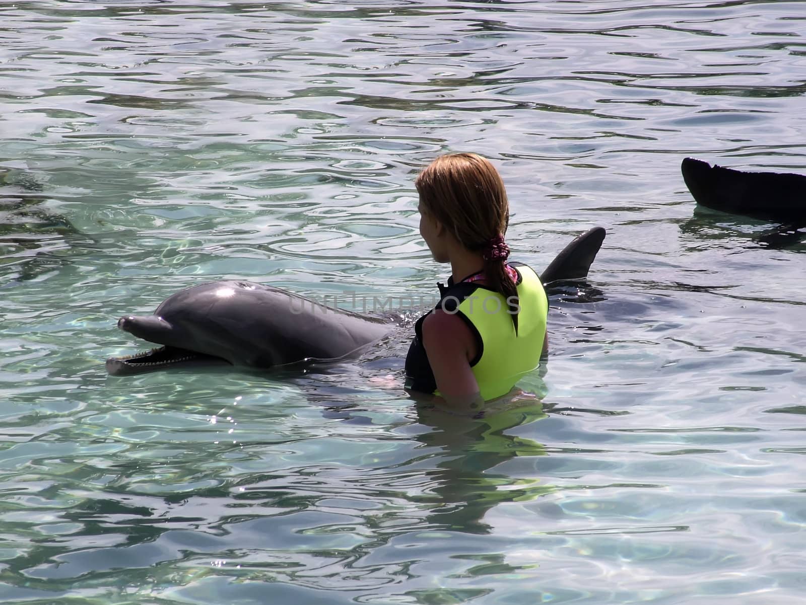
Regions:
<instances>
[{"instance_id":1,"label":"reddish-blonde hair tied in a low ponytail with a scrunchie","mask_svg":"<svg viewBox=\"0 0 806 605\"><path fill-rule=\"evenodd\" d=\"M414 181L421 208L436 218L467 250L484 252L509 226L509 201L501 175L475 153L440 155ZM504 259L484 259L488 288L509 304L517 333L517 289Z\"/></svg>"}]
</instances>

